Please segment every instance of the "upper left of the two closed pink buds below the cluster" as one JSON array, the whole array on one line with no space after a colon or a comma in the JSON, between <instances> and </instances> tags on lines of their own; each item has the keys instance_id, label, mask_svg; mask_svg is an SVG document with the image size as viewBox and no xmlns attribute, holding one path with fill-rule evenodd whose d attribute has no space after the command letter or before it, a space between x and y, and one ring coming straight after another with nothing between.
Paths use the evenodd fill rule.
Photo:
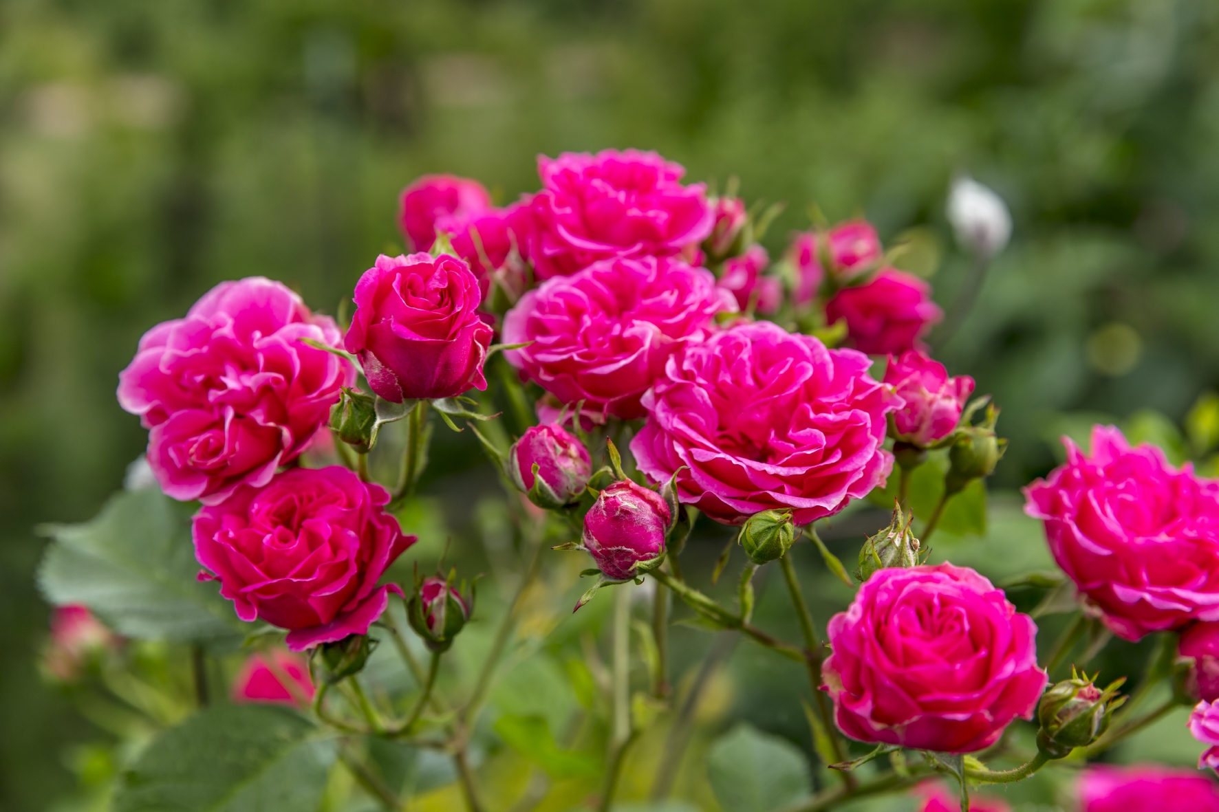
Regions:
<instances>
[{"instance_id":1,"label":"upper left of the two closed pink buds below the cluster","mask_svg":"<svg viewBox=\"0 0 1219 812\"><path fill-rule=\"evenodd\" d=\"M577 438L557 423L530 426L508 451L508 475L538 507L569 505L589 484L592 463Z\"/></svg>"}]
</instances>

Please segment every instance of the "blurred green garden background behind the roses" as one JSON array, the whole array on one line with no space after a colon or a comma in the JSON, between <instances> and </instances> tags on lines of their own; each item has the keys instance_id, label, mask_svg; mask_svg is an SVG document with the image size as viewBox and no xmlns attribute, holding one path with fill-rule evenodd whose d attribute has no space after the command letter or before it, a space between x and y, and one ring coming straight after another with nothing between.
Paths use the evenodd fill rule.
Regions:
<instances>
[{"instance_id":1,"label":"blurred green garden background behind the roses","mask_svg":"<svg viewBox=\"0 0 1219 812\"><path fill-rule=\"evenodd\" d=\"M1002 405L1011 489L1062 413L1179 419L1215 384L1217 45L1206 0L0 0L0 808L71 791L93 735L37 677L33 527L119 485L116 376L215 283L334 312L416 176L506 201L538 152L638 146L786 201L773 256L814 201L922 227L946 304L968 172L1014 239L941 357ZM1043 556L1022 528L989 546Z\"/></svg>"}]
</instances>

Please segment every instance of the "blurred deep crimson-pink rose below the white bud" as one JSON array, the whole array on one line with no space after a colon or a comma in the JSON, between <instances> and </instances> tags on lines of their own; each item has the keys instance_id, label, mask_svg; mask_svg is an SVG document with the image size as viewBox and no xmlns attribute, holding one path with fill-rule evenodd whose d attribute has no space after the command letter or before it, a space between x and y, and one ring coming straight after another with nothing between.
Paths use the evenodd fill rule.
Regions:
<instances>
[{"instance_id":1,"label":"blurred deep crimson-pink rose below the white bud","mask_svg":"<svg viewBox=\"0 0 1219 812\"><path fill-rule=\"evenodd\" d=\"M883 268L870 282L844 288L825 304L825 321L846 319L847 338L861 352L884 355L925 349L923 335L944 316L931 285L909 273Z\"/></svg>"}]
</instances>

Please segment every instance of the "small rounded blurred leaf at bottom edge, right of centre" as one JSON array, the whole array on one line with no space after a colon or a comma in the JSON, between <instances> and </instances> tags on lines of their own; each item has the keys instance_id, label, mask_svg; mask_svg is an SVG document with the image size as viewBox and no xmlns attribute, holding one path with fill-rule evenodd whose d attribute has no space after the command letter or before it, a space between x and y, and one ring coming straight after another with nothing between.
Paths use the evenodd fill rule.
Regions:
<instances>
[{"instance_id":1,"label":"small rounded blurred leaf at bottom edge, right of centre","mask_svg":"<svg viewBox=\"0 0 1219 812\"><path fill-rule=\"evenodd\" d=\"M744 722L711 746L707 777L724 812L769 812L812 788L798 747Z\"/></svg>"}]
</instances>

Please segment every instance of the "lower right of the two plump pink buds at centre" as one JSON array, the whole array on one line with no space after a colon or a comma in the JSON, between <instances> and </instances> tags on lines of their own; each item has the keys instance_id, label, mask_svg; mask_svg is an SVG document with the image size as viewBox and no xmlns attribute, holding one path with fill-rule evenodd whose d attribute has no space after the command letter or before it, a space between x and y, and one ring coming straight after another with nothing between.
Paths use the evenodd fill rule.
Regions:
<instances>
[{"instance_id":1,"label":"lower right of the two plump pink buds at centre","mask_svg":"<svg viewBox=\"0 0 1219 812\"><path fill-rule=\"evenodd\" d=\"M628 480L616 482L597 496L584 517L584 547L610 580L644 574L640 564L664 552L672 513L659 494Z\"/></svg>"}]
</instances>

